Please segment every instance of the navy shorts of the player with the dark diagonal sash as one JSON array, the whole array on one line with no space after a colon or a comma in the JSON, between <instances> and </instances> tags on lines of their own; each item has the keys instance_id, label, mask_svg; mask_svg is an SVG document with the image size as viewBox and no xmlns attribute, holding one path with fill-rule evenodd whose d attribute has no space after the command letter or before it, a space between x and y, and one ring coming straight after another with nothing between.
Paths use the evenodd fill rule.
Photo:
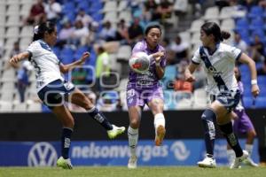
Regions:
<instances>
[{"instance_id":1,"label":"navy shorts of the player with the dark diagonal sash","mask_svg":"<svg viewBox=\"0 0 266 177\"><path fill-rule=\"evenodd\" d=\"M221 92L218 96L211 95L211 101L214 102L215 100L223 104L228 112L231 112L239 104L240 92L236 90Z\"/></svg>"}]
</instances>

